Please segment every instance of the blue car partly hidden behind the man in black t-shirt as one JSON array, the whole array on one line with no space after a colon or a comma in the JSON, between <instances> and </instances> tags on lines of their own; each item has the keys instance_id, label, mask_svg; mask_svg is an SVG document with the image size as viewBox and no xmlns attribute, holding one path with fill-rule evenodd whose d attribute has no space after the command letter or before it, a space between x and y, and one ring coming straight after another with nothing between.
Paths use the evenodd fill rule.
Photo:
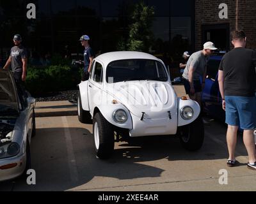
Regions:
<instances>
[{"instance_id":1,"label":"blue car partly hidden behind the man in black t-shirt","mask_svg":"<svg viewBox=\"0 0 256 204\"><path fill-rule=\"evenodd\" d=\"M222 108L220 87L218 82L218 71L223 55L212 56L207 67L205 89L202 92L202 105L205 113L215 119L225 122L225 111ZM239 128L239 131L243 131ZM256 130L255 130L256 142Z\"/></svg>"}]
</instances>

